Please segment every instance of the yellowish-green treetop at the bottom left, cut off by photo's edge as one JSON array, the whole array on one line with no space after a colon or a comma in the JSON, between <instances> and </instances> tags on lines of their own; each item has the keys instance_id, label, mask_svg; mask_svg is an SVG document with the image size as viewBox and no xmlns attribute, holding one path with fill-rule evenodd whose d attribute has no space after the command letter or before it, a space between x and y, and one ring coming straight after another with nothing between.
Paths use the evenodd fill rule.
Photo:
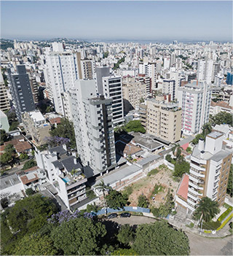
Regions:
<instances>
[{"instance_id":1,"label":"yellowish-green treetop at the bottom left, cut off by photo's edge","mask_svg":"<svg viewBox=\"0 0 233 256\"><path fill-rule=\"evenodd\" d=\"M13 255L57 255L58 249L53 245L50 236L39 234L25 235L19 241Z\"/></svg>"}]
</instances>

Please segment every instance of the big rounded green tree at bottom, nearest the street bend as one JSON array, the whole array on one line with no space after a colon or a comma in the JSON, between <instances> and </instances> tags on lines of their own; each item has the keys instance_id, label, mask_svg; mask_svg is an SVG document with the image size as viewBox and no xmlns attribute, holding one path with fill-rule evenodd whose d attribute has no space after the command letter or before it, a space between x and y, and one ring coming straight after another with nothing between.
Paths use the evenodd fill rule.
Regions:
<instances>
[{"instance_id":1,"label":"big rounded green tree at bottom, nearest the street bend","mask_svg":"<svg viewBox=\"0 0 233 256\"><path fill-rule=\"evenodd\" d=\"M189 255L189 238L165 221L139 225L133 249L139 255Z\"/></svg>"}]
</instances>

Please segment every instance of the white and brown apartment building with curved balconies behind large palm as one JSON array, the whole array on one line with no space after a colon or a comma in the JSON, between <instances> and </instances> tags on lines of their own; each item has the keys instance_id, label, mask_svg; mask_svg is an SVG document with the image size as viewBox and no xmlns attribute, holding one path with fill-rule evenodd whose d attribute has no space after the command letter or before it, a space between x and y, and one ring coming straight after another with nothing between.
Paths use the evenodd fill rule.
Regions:
<instances>
[{"instance_id":1,"label":"white and brown apartment building with curved balconies behind large palm","mask_svg":"<svg viewBox=\"0 0 233 256\"><path fill-rule=\"evenodd\" d=\"M194 212L198 201L205 196L219 206L224 204L232 150L224 149L223 139L224 133L213 131L194 147L188 185L183 188L186 197L178 195L175 200L175 204L185 208L187 213Z\"/></svg>"}]
</instances>

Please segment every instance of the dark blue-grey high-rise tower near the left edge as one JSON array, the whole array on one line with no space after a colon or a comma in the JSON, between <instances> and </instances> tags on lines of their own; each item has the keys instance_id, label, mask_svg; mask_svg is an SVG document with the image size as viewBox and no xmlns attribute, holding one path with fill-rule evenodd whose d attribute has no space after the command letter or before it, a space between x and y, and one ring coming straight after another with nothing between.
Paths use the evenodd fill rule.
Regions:
<instances>
[{"instance_id":1,"label":"dark blue-grey high-rise tower near the left edge","mask_svg":"<svg viewBox=\"0 0 233 256\"><path fill-rule=\"evenodd\" d=\"M17 119L21 123L24 112L30 112L36 109L29 76L24 65L17 65L16 73L8 69L8 75L15 112Z\"/></svg>"}]
</instances>

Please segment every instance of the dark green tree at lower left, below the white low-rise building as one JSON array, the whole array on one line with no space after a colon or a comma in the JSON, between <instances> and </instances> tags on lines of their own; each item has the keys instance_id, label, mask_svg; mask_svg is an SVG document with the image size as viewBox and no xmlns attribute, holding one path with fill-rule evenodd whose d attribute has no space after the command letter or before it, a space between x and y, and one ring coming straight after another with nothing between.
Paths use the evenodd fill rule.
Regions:
<instances>
[{"instance_id":1,"label":"dark green tree at lower left, below the white low-rise building","mask_svg":"<svg viewBox=\"0 0 233 256\"><path fill-rule=\"evenodd\" d=\"M14 232L35 233L55 212L57 208L50 198L36 194L16 201L15 206L9 210L7 220Z\"/></svg>"}]
</instances>

